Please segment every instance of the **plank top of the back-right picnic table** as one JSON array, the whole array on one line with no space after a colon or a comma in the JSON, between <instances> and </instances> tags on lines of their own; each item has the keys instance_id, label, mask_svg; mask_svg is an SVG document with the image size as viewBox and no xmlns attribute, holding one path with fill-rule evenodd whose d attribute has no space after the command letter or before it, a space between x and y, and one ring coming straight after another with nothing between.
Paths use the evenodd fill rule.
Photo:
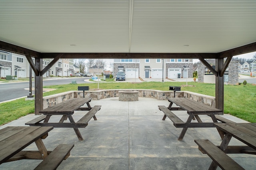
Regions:
<instances>
[{"instance_id":1,"label":"plank top of the back-right picnic table","mask_svg":"<svg viewBox=\"0 0 256 170\"><path fill-rule=\"evenodd\" d=\"M182 109L188 111L188 113L218 113L222 112L220 109L210 107L206 104L199 103L189 98L167 98L170 102L173 102Z\"/></svg>"}]
</instances>

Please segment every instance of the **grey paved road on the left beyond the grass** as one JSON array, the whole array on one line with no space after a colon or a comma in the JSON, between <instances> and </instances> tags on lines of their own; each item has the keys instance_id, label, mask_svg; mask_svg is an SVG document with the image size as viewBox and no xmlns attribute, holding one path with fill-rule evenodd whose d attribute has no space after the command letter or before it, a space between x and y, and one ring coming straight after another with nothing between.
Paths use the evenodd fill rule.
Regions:
<instances>
[{"instance_id":1,"label":"grey paved road on the left beyond the grass","mask_svg":"<svg viewBox=\"0 0 256 170\"><path fill-rule=\"evenodd\" d=\"M58 84L70 84L72 80L76 80L77 83L89 83L84 80L90 77L76 77L76 78L49 78L43 80L43 86L58 85ZM32 87L34 87L34 81L32 82ZM0 102L6 100L12 100L15 98L20 98L29 95L29 82L12 82L12 83L0 83ZM34 91L32 91L34 94Z\"/></svg>"}]
</instances>

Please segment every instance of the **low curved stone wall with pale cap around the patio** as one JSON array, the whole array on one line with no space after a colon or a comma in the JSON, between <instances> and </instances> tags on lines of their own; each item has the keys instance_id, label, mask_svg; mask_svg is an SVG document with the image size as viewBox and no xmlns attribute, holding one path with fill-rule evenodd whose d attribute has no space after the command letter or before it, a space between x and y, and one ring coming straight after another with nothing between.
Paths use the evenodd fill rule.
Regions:
<instances>
[{"instance_id":1,"label":"low curved stone wall with pale cap around the patio","mask_svg":"<svg viewBox=\"0 0 256 170\"><path fill-rule=\"evenodd\" d=\"M118 97L119 91L136 90L139 97L154 98L157 100L166 100L166 97L174 97L174 91L162 91L162 90L150 90L150 89L110 89L110 90L97 90L97 91L85 91L85 97L91 97L93 100L100 100L104 98ZM211 107L215 107L215 97L198 94L188 91L176 91L175 96L178 98L190 98L200 103L206 104ZM43 108L47 108L56 105L60 102L71 98L83 98L83 92L81 91L69 91L43 98Z\"/></svg>"}]
</instances>

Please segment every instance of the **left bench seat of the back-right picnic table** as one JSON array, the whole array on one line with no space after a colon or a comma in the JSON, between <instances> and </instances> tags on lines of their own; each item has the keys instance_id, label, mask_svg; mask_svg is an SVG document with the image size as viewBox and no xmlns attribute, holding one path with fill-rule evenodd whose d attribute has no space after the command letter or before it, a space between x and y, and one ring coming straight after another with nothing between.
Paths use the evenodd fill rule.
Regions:
<instances>
[{"instance_id":1,"label":"left bench seat of the back-right picnic table","mask_svg":"<svg viewBox=\"0 0 256 170\"><path fill-rule=\"evenodd\" d=\"M164 112L164 117L162 120L165 120L166 116L173 122L175 127L184 127L186 123L182 121L178 116L176 116L172 111L170 111L166 106L158 106L158 108Z\"/></svg>"}]
</instances>

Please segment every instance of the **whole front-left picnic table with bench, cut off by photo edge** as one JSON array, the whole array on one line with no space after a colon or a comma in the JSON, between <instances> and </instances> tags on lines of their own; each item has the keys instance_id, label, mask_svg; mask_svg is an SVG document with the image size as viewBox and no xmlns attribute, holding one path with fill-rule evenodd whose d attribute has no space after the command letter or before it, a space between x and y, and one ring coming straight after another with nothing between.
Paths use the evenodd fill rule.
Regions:
<instances>
[{"instance_id":1,"label":"whole front-left picnic table with bench, cut off by photo edge","mask_svg":"<svg viewBox=\"0 0 256 170\"><path fill-rule=\"evenodd\" d=\"M43 159L36 169L56 169L74 144L60 144L48 151L42 142L53 127L5 127L0 129L0 164L21 159ZM35 142L38 151L23 150Z\"/></svg>"}]
</instances>

